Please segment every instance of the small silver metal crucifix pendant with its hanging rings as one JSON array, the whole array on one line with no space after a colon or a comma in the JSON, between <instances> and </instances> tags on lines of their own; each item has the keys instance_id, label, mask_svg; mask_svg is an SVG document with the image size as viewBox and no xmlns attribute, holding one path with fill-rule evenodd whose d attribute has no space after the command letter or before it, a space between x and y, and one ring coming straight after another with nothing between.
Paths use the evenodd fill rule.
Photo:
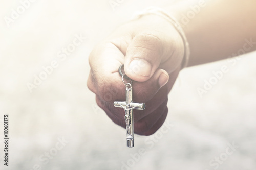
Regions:
<instances>
[{"instance_id":1,"label":"small silver metal crucifix pendant with its hanging rings","mask_svg":"<svg viewBox=\"0 0 256 170\"><path fill-rule=\"evenodd\" d=\"M144 103L135 103L133 102L132 95L132 80L122 73L123 64L119 67L118 72L122 76L122 81L126 87L126 98L125 101L115 101L114 106L124 109L125 116L124 120L126 123L126 141L127 147L132 148L134 146L133 141L133 109L144 110L146 105ZM129 80L129 83L126 83L124 79Z\"/></svg>"}]
</instances>

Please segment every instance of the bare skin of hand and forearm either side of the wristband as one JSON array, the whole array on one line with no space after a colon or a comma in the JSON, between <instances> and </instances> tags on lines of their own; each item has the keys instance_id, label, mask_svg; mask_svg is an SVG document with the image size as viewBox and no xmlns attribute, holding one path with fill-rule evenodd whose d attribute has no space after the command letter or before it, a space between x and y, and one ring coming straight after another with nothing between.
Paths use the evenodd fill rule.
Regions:
<instances>
[{"instance_id":1,"label":"bare skin of hand and forearm either side of the wristband","mask_svg":"<svg viewBox=\"0 0 256 170\"><path fill-rule=\"evenodd\" d=\"M166 10L180 20L197 3L186 1ZM245 39L256 41L255 6L254 1L208 1L184 27L191 50L188 66L227 58L243 48ZM146 104L144 111L134 110L134 132L151 135L167 116L167 95L181 70L184 50L172 23L155 14L144 15L95 46L89 56L88 88L96 94L99 107L125 128L124 110L113 105L125 100L125 85L118 73L124 64L125 74L133 80L133 101ZM249 51L253 50L256 45Z\"/></svg>"}]
</instances>

